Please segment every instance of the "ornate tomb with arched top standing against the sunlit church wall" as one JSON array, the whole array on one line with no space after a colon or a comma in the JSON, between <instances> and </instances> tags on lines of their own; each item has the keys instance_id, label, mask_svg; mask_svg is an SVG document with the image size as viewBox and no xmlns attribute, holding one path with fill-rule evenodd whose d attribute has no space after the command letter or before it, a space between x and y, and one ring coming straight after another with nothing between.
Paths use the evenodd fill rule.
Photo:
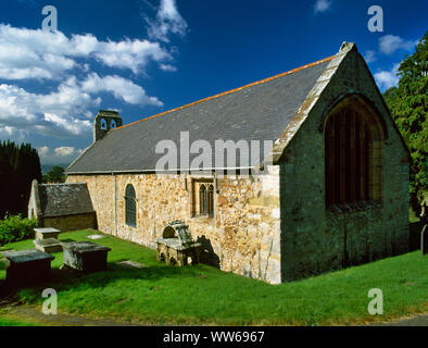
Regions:
<instances>
[{"instance_id":1,"label":"ornate tomb with arched top standing against the sunlit church wall","mask_svg":"<svg viewBox=\"0 0 428 348\"><path fill-rule=\"evenodd\" d=\"M189 226L181 220L165 225L162 238L156 240L158 261L166 264L187 265L199 262L200 243L191 238Z\"/></svg>"}]
</instances>

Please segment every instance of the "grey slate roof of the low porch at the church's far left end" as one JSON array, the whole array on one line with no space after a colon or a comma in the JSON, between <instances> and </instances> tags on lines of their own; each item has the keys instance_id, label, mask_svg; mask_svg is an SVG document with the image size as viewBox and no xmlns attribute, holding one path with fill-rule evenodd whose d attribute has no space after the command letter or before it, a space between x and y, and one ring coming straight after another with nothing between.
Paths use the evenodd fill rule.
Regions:
<instances>
[{"instance_id":1,"label":"grey slate roof of the low porch at the church's far left end","mask_svg":"<svg viewBox=\"0 0 428 348\"><path fill-rule=\"evenodd\" d=\"M95 212L86 183L40 184L39 195L45 217Z\"/></svg>"}]
</instances>

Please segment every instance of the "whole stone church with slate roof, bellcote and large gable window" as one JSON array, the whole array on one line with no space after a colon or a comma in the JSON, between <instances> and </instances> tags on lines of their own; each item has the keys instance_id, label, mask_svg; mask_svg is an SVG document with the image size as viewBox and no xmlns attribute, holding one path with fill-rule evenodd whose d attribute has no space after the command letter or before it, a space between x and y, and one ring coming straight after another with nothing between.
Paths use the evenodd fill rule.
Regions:
<instances>
[{"instance_id":1,"label":"whole stone church with slate roof, bellcote and large gable window","mask_svg":"<svg viewBox=\"0 0 428 348\"><path fill-rule=\"evenodd\" d=\"M191 144L270 140L254 165L264 174L190 159L160 173L156 144L179 144L181 132ZM206 262L278 284L405 252L410 161L364 59L343 42L330 58L133 124L100 111L93 144L66 174L87 185L100 231L154 248L182 220Z\"/></svg>"}]
</instances>

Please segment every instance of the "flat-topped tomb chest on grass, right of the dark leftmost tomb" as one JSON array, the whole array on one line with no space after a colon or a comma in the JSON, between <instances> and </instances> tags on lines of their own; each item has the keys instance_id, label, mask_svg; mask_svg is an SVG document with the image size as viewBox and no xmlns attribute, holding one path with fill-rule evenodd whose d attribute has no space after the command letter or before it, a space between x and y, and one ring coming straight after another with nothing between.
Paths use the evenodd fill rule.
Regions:
<instances>
[{"instance_id":1,"label":"flat-topped tomb chest on grass, right of the dark leftmost tomb","mask_svg":"<svg viewBox=\"0 0 428 348\"><path fill-rule=\"evenodd\" d=\"M106 270L112 249L91 241L63 243L64 265L85 273Z\"/></svg>"}]
</instances>

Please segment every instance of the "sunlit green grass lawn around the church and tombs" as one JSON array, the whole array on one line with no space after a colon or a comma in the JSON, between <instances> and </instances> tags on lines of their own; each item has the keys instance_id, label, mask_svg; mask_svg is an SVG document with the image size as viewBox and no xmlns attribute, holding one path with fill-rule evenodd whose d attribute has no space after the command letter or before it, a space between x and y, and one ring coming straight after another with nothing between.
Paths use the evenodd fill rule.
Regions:
<instances>
[{"instance_id":1,"label":"sunlit green grass lawn around the church and tombs","mask_svg":"<svg viewBox=\"0 0 428 348\"><path fill-rule=\"evenodd\" d=\"M64 233L60 239L89 240L93 231ZM320 276L268 285L214 268L166 266L155 251L106 236L96 243L112 248L108 272L75 275L60 271L55 253L50 283L17 293L28 303L41 303L43 288L58 291L64 313L115 318L146 324L328 325L389 320L428 310L428 257L419 251ZM5 248L32 248L20 241ZM148 265L128 270L117 261ZM0 278L5 271L0 269ZM383 291L383 315L367 312L370 288Z\"/></svg>"}]
</instances>

